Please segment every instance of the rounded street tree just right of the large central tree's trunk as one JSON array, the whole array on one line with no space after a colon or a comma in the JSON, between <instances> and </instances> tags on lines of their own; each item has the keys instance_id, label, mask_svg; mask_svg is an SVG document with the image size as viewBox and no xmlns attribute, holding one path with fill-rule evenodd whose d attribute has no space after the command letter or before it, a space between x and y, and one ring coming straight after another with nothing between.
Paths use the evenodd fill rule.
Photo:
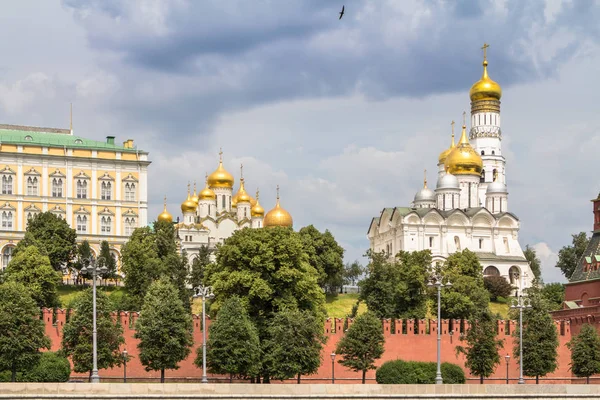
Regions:
<instances>
[{"instance_id":1,"label":"rounded street tree just right of the large central tree's trunk","mask_svg":"<svg viewBox=\"0 0 600 400\"><path fill-rule=\"evenodd\" d=\"M289 379L317 372L325 343L323 321L307 311L284 310L275 314L265 346L270 376Z\"/></svg>"}]
</instances>

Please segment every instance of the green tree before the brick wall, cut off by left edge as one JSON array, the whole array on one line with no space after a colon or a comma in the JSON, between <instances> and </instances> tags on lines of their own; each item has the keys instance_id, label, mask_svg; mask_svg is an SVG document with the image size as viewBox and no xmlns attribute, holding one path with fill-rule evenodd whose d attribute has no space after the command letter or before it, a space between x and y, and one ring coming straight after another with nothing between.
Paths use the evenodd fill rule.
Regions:
<instances>
[{"instance_id":1,"label":"green tree before the brick wall, cut off by left edge","mask_svg":"<svg viewBox=\"0 0 600 400\"><path fill-rule=\"evenodd\" d=\"M17 282L0 285L0 371L17 372L33 368L40 349L50 347L40 310L25 286Z\"/></svg>"}]
</instances>

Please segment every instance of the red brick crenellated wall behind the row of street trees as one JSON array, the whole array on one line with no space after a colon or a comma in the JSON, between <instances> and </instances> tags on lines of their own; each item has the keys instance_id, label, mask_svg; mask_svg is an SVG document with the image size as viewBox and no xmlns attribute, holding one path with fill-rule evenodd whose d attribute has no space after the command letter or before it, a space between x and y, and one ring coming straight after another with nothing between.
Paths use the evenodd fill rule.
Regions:
<instances>
[{"instance_id":1,"label":"red brick crenellated wall behind the row of street trees","mask_svg":"<svg viewBox=\"0 0 600 400\"><path fill-rule=\"evenodd\" d=\"M127 377L128 378L153 378L156 379L160 376L160 372L158 371L145 371L144 367L140 364L139 359L137 357L137 344L138 340L135 339L134 333L135 331L130 328L135 326L135 320L138 318L138 313L126 313L122 312L120 315L115 314L115 319L119 318L121 324L124 329L124 337L125 337L125 345L123 349L127 349L127 352L133 358L127 363ZM53 323L53 312L52 310L44 309L43 310L43 318L46 324L46 334L52 340L52 350L58 350L60 348L61 342L61 333L62 327L66 321L66 312L64 310L57 310L56 313L56 322ZM178 378L178 379L192 379L199 380L202 376L202 370L197 368L193 361L196 357L196 349L198 346L202 344L202 323L201 318L197 315L193 316L194 318L194 346L192 348L192 353L190 356L182 361L179 364L179 369L177 370L169 370L166 371L165 375L167 379ZM312 376L304 377L310 378L311 382L315 382L314 379L319 379L321 382L330 382L331 381L331 353L335 350L335 347L338 341L343 336L344 319L328 319L325 322L325 335L328 340L326 345L323 348L322 358L323 362L317 374ZM208 321L207 325L210 324ZM352 320L347 321L348 326L352 324ZM437 353L437 322L429 321L429 320L420 320L415 324L414 321L406 321L406 320L397 320L395 322L395 329L392 331L392 322L390 320L383 321L383 330L385 335L385 353L383 357L378 360L377 365L381 365L385 361L395 360L395 359L403 359L403 360L414 360L414 361L436 361ZM569 362L570 362L570 352L566 348L566 343L571 339L571 332L568 323L557 322L557 329L559 331L559 356L558 356L558 369L548 378L570 378L571 373L569 371ZM403 326L406 326L403 328ZM464 357L462 355L456 355L456 346L460 344L460 325L461 321L458 320L443 320L441 324L441 344L442 344L442 353L441 358L442 362L451 362L460 365L465 369L468 377L471 375L468 373L468 370L464 368ZM468 329L468 323L465 321L464 325L466 325L465 329ZM510 333L514 331L516 327L515 321L498 321L498 337L500 339L504 339L504 348L500 350L500 355L502 356L502 362L497 367L495 373L492 378L496 378L496 381L491 381L491 383L504 383L506 379L506 363L504 361L504 356L509 354L511 356L509 362L509 377L511 379L516 379L519 376L518 364L515 362L513 357L513 339L510 336ZM453 330L453 334L450 335L450 331ZM405 332L405 333L402 333ZM463 332L464 333L464 332ZM336 357L335 362L335 378L337 383L345 382L345 383L358 383L360 381L361 373L350 371L340 364L337 361L340 359L339 356ZM73 376L77 376L78 374L73 374ZM83 375L82 375L83 376ZM109 370L101 370L100 371L101 378L113 378L118 379L123 377L123 368L113 368ZM209 375L210 377L210 375ZM367 374L367 379L375 378L375 371L369 371ZM339 381L338 381L339 379ZM307 381L305 381L307 382ZM316 381L319 382L319 381ZM490 381L488 381L490 382ZM516 381L512 381L515 383ZM558 383L565 382L559 381L557 379L544 381L544 383ZM374 383L374 380L371 380L370 383Z\"/></svg>"}]
</instances>

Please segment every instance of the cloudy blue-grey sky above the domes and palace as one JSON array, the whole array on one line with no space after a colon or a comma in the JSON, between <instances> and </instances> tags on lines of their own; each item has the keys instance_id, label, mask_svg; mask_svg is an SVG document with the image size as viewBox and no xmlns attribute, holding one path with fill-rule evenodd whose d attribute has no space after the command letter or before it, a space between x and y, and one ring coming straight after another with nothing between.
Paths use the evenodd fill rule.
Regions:
<instances>
[{"instance_id":1,"label":"cloudy blue-grey sky above the domes and palace","mask_svg":"<svg viewBox=\"0 0 600 400\"><path fill-rule=\"evenodd\" d=\"M345 15L338 12L345 5ZM131 138L148 151L149 215L224 165L295 228L362 259L371 219L435 182L450 121L489 73L519 240L546 282L591 231L600 148L598 1L20 0L0 14L0 122ZM237 186L237 185L236 185ZM364 260L364 259L362 259Z\"/></svg>"}]
</instances>

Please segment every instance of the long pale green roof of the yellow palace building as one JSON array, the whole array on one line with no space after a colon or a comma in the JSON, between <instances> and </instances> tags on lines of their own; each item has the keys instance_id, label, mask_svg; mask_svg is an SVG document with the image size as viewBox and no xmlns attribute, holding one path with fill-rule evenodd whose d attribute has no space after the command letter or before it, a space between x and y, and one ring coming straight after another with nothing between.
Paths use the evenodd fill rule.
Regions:
<instances>
[{"instance_id":1,"label":"long pale green roof of the yellow palace building","mask_svg":"<svg viewBox=\"0 0 600 400\"><path fill-rule=\"evenodd\" d=\"M17 125L0 125L0 144L39 145L44 147L67 147L69 149L113 150L135 153L136 148L100 142L71 135L68 129L38 128Z\"/></svg>"}]
</instances>

